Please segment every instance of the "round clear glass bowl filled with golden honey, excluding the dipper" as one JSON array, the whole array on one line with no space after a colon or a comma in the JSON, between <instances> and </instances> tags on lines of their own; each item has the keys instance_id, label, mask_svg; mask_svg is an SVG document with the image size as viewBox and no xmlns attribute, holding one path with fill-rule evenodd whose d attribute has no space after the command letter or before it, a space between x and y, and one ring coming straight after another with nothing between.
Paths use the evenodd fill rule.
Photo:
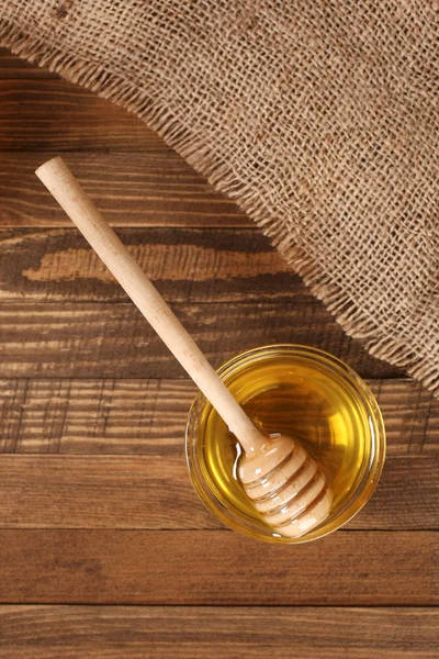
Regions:
<instances>
[{"instance_id":1,"label":"round clear glass bowl filled with golden honey, excluding the dipper","mask_svg":"<svg viewBox=\"0 0 439 659\"><path fill-rule=\"evenodd\" d=\"M299 538L284 538L251 504L238 480L240 446L199 394L187 427L187 457L202 501L254 538L297 543L339 528L371 496L385 451L380 410L365 383L335 357L305 346L268 346L233 359L218 375L267 435L293 437L315 458L333 492L329 515Z\"/></svg>"}]
</instances>

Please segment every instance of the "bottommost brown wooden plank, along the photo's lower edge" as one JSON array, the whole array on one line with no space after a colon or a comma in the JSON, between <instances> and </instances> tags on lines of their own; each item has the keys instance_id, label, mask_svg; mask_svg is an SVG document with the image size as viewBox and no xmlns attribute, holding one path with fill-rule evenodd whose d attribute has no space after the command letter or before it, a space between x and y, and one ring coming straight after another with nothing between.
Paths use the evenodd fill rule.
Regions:
<instances>
[{"instance_id":1,"label":"bottommost brown wooden plank, along the photo's lower edge","mask_svg":"<svg viewBox=\"0 0 439 659\"><path fill-rule=\"evenodd\" d=\"M428 607L5 605L0 659L431 659L438 626Z\"/></svg>"}]
</instances>

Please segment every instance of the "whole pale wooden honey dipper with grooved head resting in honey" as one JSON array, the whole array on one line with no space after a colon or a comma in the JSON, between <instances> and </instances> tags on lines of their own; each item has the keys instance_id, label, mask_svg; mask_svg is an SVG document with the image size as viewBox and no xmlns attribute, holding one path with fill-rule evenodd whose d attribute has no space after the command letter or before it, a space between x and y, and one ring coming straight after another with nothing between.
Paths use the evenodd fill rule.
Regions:
<instances>
[{"instance_id":1,"label":"whole pale wooden honey dipper with grooved head resting in honey","mask_svg":"<svg viewBox=\"0 0 439 659\"><path fill-rule=\"evenodd\" d=\"M266 436L252 424L64 160L53 158L35 174L239 440L239 479L267 524L284 537L319 524L333 494L316 461L294 439Z\"/></svg>"}]
</instances>

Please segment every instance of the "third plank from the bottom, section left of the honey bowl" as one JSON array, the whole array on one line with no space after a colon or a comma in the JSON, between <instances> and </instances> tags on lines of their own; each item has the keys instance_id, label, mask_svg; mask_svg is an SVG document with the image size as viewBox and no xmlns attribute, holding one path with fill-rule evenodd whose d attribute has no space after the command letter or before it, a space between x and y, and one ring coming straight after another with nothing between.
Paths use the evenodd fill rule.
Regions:
<instances>
[{"instance_id":1,"label":"third plank from the bottom, section left of the honey bowl","mask_svg":"<svg viewBox=\"0 0 439 659\"><path fill-rule=\"evenodd\" d=\"M222 528L180 456L0 457L0 527ZM5 501L3 501L3 498Z\"/></svg>"}]
</instances>

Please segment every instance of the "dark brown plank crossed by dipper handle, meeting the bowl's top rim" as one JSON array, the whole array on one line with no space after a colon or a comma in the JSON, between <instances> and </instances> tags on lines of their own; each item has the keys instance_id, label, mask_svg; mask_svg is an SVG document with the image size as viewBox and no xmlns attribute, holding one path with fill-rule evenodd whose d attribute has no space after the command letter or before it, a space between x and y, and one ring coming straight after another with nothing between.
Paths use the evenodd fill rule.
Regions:
<instances>
[{"instance_id":1,"label":"dark brown plank crossed by dipper handle, meeting the bowl's top rim","mask_svg":"<svg viewBox=\"0 0 439 659\"><path fill-rule=\"evenodd\" d=\"M348 337L317 300L295 303L172 304L213 366L252 347L317 346L364 378L401 377ZM8 302L0 309L0 378L181 378L170 356L131 303Z\"/></svg>"}]
</instances>

